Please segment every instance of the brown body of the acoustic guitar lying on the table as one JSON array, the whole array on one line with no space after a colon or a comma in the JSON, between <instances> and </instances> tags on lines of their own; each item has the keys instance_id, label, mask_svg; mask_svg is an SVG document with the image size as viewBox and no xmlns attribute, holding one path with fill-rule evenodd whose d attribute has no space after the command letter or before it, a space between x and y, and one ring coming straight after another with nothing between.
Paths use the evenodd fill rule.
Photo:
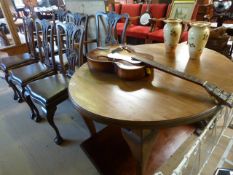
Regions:
<instances>
[{"instance_id":1,"label":"brown body of the acoustic guitar lying on the table","mask_svg":"<svg viewBox=\"0 0 233 175\"><path fill-rule=\"evenodd\" d=\"M152 68L133 59L133 56L135 55L131 51L127 51L126 47L111 46L89 52L87 62L89 69L93 72L115 73L124 80L139 80L153 75ZM149 57L147 56L147 58ZM153 59L153 57L149 59Z\"/></svg>"}]
</instances>

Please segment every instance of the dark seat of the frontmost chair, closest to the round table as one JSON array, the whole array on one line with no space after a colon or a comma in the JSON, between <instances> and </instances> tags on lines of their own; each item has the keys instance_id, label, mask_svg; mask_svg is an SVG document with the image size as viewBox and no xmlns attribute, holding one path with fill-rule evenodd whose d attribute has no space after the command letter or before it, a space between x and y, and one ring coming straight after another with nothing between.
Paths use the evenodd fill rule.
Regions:
<instances>
[{"instance_id":1,"label":"dark seat of the frontmost chair, closest to the round table","mask_svg":"<svg viewBox=\"0 0 233 175\"><path fill-rule=\"evenodd\" d=\"M68 98L68 83L69 78L63 74L56 74L29 83L26 89L36 101L48 105L57 99Z\"/></svg>"}]
</instances>

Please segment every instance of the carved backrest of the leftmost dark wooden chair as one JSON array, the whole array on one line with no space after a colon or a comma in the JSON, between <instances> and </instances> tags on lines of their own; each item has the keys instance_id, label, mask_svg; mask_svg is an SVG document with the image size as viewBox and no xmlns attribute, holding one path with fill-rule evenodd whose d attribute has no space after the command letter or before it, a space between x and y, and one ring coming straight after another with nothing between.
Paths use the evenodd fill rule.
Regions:
<instances>
[{"instance_id":1,"label":"carved backrest of the leftmost dark wooden chair","mask_svg":"<svg viewBox=\"0 0 233 175\"><path fill-rule=\"evenodd\" d=\"M34 20L30 17L23 17L23 28L24 28L25 41L28 47L28 51L32 55L32 57L38 58L35 49Z\"/></svg>"}]
</instances>

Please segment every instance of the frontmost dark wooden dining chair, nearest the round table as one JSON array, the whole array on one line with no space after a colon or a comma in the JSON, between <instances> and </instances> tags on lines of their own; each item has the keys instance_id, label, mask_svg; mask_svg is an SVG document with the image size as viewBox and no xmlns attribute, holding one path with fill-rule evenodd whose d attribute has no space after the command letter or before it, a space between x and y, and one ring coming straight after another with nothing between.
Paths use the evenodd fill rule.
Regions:
<instances>
[{"instance_id":1,"label":"frontmost dark wooden dining chair, nearest the round table","mask_svg":"<svg viewBox=\"0 0 233 175\"><path fill-rule=\"evenodd\" d=\"M54 141L60 145L63 142L63 138L54 123L54 114L57 105L68 99L69 78L73 75L75 69L82 65L84 28L73 23L58 23L56 24L56 31L59 55L63 55L63 37L65 33L65 54L68 60L68 70L63 65L64 70L61 73L30 82L26 86L26 98L30 102L28 104L30 109L32 109L32 115L38 119L41 117L36 112L38 110L34 103L42 107L48 123L56 133Z\"/></svg>"}]
</instances>

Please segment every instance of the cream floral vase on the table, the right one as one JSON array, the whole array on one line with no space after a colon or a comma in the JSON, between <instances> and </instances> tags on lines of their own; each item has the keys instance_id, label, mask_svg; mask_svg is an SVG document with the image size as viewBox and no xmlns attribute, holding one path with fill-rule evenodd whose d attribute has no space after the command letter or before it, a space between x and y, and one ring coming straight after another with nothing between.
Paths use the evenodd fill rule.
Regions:
<instances>
[{"instance_id":1,"label":"cream floral vase on the table, the right one","mask_svg":"<svg viewBox=\"0 0 233 175\"><path fill-rule=\"evenodd\" d=\"M198 59L208 41L210 35L210 23L196 21L191 22L190 25L191 28L188 32L189 56L192 59Z\"/></svg>"}]
</instances>

